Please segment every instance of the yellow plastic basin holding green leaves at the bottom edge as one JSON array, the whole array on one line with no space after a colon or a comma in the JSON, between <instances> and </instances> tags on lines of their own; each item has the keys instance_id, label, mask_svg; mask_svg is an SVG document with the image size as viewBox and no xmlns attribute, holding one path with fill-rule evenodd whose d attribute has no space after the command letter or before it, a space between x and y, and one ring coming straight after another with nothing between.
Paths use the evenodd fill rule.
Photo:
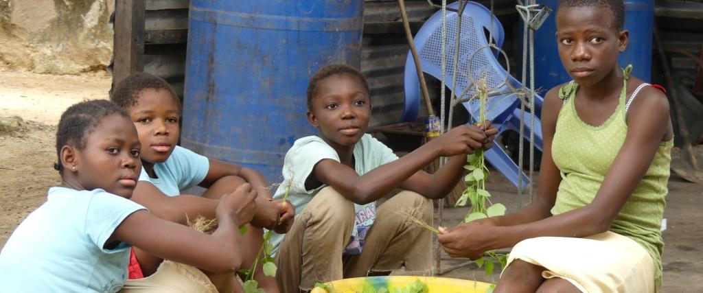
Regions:
<instances>
[{"instance_id":1,"label":"yellow plastic basin holding green leaves at the bottom edge","mask_svg":"<svg viewBox=\"0 0 703 293\"><path fill-rule=\"evenodd\" d=\"M428 293L484 293L491 284L475 282L470 280L458 280L451 278L437 277L410 277L410 276L389 276L389 277L366 277L351 278L328 282L334 289L334 293L361 293L366 284L373 285L375 289L385 287L387 289L402 289L406 285L420 280L430 289Z\"/></svg>"}]
</instances>

